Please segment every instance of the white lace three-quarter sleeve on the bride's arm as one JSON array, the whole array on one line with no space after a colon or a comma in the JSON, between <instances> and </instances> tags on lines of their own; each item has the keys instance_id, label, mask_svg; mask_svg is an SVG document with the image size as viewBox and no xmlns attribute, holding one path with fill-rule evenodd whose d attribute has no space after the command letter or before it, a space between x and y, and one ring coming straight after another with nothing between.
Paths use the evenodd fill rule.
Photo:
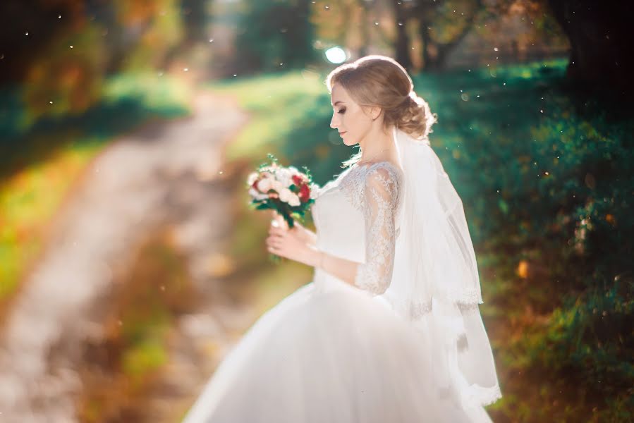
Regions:
<instances>
[{"instance_id":1,"label":"white lace three-quarter sleeve on the bride's arm","mask_svg":"<svg viewBox=\"0 0 634 423\"><path fill-rule=\"evenodd\" d=\"M359 264L355 286L380 295L389 287L396 244L395 212L398 183L387 168L373 168L365 178L365 263Z\"/></svg>"}]
</instances>

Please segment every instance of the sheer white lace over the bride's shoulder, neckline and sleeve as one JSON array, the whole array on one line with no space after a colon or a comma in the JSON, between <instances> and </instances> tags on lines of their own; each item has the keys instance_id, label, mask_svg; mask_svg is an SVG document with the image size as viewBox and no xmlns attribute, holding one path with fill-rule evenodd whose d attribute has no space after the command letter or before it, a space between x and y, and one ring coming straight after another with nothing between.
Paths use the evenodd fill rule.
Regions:
<instances>
[{"instance_id":1,"label":"sheer white lace over the bride's shoulder, neckline and sleeve","mask_svg":"<svg viewBox=\"0 0 634 423\"><path fill-rule=\"evenodd\" d=\"M380 295L389 287L394 268L396 215L402 174L389 161L355 165L341 180L341 191L364 218L365 262L355 275L355 286Z\"/></svg>"}]
</instances>

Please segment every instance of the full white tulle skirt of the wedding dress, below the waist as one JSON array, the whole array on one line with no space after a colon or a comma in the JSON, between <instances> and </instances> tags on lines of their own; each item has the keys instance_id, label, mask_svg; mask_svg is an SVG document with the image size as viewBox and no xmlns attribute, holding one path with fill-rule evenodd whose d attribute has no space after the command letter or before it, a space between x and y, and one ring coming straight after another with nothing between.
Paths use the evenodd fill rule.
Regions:
<instances>
[{"instance_id":1,"label":"full white tulle skirt of the wedding dress, below the waist","mask_svg":"<svg viewBox=\"0 0 634 423\"><path fill-rule=\"evenodd\" d=\"M183 422L490 422L435 384L433 338L378 297L308 283L251 326Z\"/></svg>"}]
</instances>

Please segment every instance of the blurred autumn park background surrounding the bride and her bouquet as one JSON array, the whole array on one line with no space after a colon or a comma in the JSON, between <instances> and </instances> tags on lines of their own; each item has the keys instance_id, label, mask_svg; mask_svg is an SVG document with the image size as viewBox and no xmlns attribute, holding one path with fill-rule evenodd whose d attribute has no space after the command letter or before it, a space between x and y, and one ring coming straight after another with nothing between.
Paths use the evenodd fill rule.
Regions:
<instances>
[{"instance_id":1,"label":"blurred autumn park background surrounding the bride and her bouquet","mask_svg":"<svg viewBox=\"0 0 634 423\"><path fill-rule=\"evenodd\" d=\"M272 264L245 176L323 184L339 63L386 54L438 115L504 398L495 422L634 419L627 2L0 4L0 421L178 422ZM310 220L306 222L311 225Z\"/></svg>"}]
</instances>

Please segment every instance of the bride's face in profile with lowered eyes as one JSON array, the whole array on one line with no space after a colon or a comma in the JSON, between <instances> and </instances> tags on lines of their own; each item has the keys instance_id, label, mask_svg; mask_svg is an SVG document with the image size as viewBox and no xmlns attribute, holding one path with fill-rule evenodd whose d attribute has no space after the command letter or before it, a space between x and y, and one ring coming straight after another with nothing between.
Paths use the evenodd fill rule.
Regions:
<instances>
[{"instance_id":1,"label":"bride's face in profile with lowered eyes","mask_svg":"<svg viewBox=\"0 0 634 423\"><path fill-rule=\"evenodd\" d=\"M332 87L330 101L333 108L330 127L339 131L343 144L362 142L372 128L372 116L355 103L339 84Z\"/></svg>"}]
</instances>

